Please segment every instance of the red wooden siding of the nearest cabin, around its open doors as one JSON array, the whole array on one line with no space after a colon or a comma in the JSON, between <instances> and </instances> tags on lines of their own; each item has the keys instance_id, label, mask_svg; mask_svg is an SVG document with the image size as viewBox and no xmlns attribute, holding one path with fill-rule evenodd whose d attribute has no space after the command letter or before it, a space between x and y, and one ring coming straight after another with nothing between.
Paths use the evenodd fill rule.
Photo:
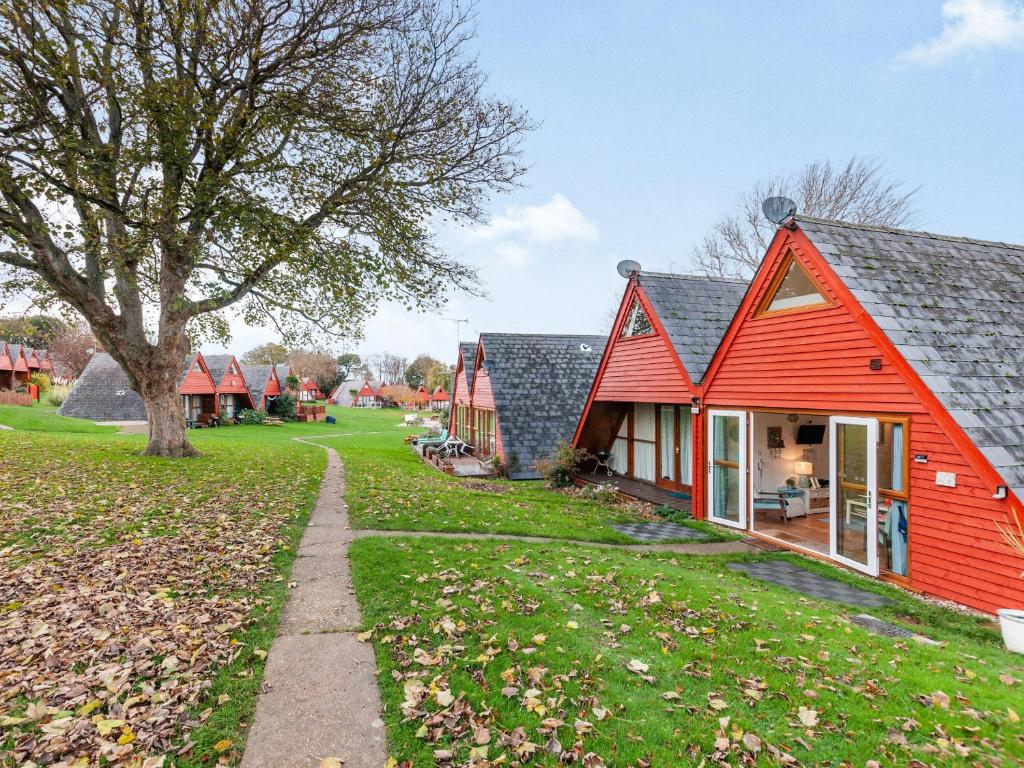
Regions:
<instances>
[{"instance_id":1,"label":"red wooden siding of the nearest cabin, around its open doors","mask_svg":"<svg viewBox=\"0 0 1024 768\"><path fill-rule=\"evenodd\" d=\"M787 250L835 306L754 317ZM881 357L881 371L868 361ZM1024 561L1000 541L1010 502L992 499L994 470L915 378L840 279L799 231L783 232L733 321L705 383L706 407L819 410L909 417L909 571L912 588L986 611L1024 603ZM701 420L702 421L702 420ZM699 442L705 453L703 435ZM702 461L695 475L703 478ZM955 472L956 487L935 484ZM706 503L703 489L694 502Z\"/></svg>"}]
</instances>

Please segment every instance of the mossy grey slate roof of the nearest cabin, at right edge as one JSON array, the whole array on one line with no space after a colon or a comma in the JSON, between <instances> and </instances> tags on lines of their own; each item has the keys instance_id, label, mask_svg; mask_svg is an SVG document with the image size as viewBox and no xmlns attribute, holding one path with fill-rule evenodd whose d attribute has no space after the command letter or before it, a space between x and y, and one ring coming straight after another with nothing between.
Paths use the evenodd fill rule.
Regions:
<instances>
[{"instance_id":1,"label":"mossy grey slate roof of the nearest cabin, at right edge","mask_svg":"<svg viewBox=\"0 0 1024 768\"><path fill-rule=\"evenodd\" d=\"M1024 246L797 223L1018 497L1024 497Z\"/></svg>"}]
</instances>

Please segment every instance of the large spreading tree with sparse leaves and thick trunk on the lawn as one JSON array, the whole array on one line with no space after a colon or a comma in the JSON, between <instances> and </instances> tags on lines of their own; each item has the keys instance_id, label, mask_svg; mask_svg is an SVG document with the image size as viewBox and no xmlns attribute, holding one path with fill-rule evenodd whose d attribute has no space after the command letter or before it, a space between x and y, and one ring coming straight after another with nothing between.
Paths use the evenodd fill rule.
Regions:
<instances>
[{"instance_id":1,"label":"large spreading tree with sparse leaves and thick trunk on the lawn","mask_svg":"<svg viewBox=\"0 0 1024 768\"><path fill-rule=\"evenodd\" d=\"M0 4L2 287L77 309L146 453L191 455L175 381L229 313L352 333L471 288L431 224L479 220L529 128L472 36L444 0Z\"/></svg>"}]
</instances>

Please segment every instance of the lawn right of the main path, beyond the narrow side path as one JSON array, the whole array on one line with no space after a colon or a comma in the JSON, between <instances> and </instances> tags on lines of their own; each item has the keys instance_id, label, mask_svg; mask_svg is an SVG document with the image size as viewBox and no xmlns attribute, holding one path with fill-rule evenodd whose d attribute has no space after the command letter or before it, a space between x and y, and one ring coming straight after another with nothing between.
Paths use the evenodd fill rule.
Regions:
<instances>
[{"instance_id":1,"label":"lawn right of the main path, beyond the narrow side path","mask_svg":"<svg viewBox=\"0 0 1024 768\"><path fill-rule=\"evenodd\" d=\"M641 519L623 505L553 493L539 481L479 482L443 475L395 439L397 412L354 411L349 421L366 431L325 441L345 462L353 527L628 543L609 523ZM372 430L378 422L381 431Z\"/></svg>"}]
</instances>

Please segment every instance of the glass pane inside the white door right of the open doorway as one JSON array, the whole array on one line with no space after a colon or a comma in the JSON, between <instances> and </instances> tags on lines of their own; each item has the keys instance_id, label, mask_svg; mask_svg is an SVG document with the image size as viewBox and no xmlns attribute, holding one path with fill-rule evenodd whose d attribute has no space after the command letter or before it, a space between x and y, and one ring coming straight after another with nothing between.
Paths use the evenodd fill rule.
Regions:
<instances>
[{"instance_id":1,"label":"glass pane inside the white door right of the open doorway","mask_svg":"<svg viewBox=\"0 0 1024 768\"><path fill-rule=\"evenodd\" d=\"M867 564L867 427L837 424L836 554Z\"/></svg>"}]
</instances>

